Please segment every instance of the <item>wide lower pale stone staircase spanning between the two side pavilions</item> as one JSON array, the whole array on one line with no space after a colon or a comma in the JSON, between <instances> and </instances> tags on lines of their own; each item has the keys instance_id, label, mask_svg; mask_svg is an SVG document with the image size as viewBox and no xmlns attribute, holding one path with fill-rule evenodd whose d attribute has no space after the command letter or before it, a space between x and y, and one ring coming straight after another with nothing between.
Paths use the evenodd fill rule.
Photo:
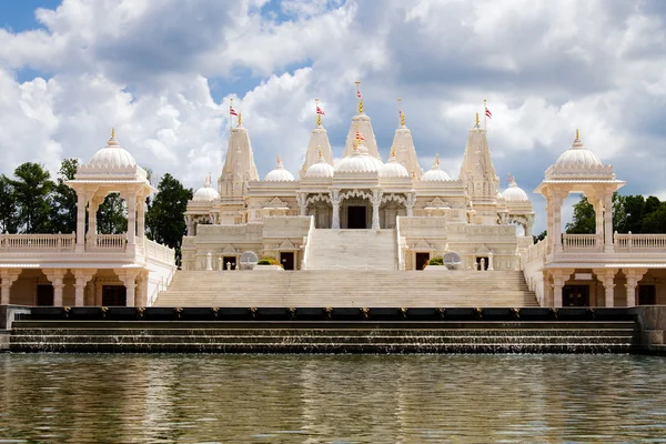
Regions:
<instances>
[{"instance_id":1,"label":"wide lower pale stone staircase spanning between the two side pavilions","mask_svg":"<svg viewBox=\"0 0 666 444\"><path fill-rule=\"evenodd\" d=\"M519 307L537 306L537 302L534 293L527 289L523 273L518 271L351 269L178 271L169 289L159 294L154 305Z\"/></svg>"}]
</instances>

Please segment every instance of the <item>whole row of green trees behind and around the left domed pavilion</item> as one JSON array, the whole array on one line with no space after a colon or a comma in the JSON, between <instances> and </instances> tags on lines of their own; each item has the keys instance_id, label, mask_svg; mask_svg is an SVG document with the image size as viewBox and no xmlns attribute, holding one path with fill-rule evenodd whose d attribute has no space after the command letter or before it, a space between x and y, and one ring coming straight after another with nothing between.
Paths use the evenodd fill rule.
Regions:
<instances>
[{"instance_id":1,"label":"whole row of green trees behind and around the left domed pavilion","mask_svg":"<svg viewBox=\"0 0 666 444\"><path fill-rule=\"evenodd\" d=\"M56 181L42 164L33 162L17 167L12 178L0 175L0 233L75 232L77 193L65 182L74 179L78 168L78 159L63 160ZM179 261L186 230L183 215L191 199L192 189L169 173L161 178L158 193L147 199L145 235L175 249ZM127 232L127 206L119 193L107 195L97 221L100 233Z\"/></svg>"}]
</instances>

